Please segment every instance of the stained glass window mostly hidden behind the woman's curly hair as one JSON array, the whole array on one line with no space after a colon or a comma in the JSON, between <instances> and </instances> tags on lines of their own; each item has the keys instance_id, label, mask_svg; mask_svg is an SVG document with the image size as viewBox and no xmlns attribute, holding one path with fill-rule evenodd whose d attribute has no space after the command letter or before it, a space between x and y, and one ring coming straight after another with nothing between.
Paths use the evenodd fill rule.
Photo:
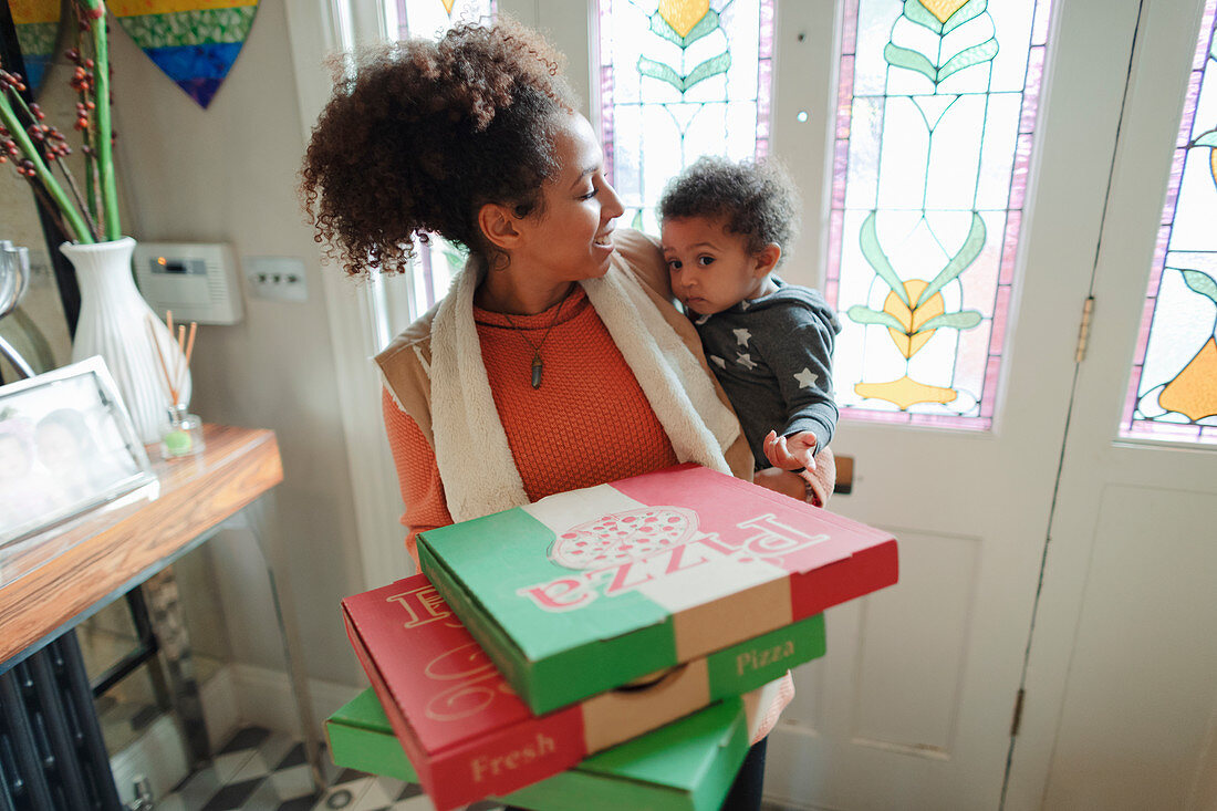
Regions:
<instances>
[{"instance_id":1,"label":"stained glass window mostly hidden behind the woman's curly hair","mask_svg":"<svg viewBox=\"0 0 1217 811\"><path fill-rule=\"evenodd\" d=\"M439 39L453 24L488 23L494 19L494 0L389 0L397 12L398 37ZM465 264L465 251L438 235L415 244L414 311L430 309L448 292L453 274Z\"/></svg>"}]
</instances>

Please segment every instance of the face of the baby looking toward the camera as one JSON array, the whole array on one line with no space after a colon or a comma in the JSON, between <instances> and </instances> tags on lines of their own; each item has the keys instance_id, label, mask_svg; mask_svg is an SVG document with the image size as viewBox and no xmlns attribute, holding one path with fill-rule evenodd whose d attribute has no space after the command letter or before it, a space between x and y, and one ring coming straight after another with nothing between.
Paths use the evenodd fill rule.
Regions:
<instances>
[{"instance_id":1,"label":"face of the baby looking toward the camera","mask_svg":"<svg viewBox=\"0 0 1217 811\"><path fill-rule=\"evenodd\" d=\"M690 312L720 313L765 290L768 267L748 253L742 235L728 233L720 220L666 219L662 241L672 292Z\"/></svg>"}]
</instances>

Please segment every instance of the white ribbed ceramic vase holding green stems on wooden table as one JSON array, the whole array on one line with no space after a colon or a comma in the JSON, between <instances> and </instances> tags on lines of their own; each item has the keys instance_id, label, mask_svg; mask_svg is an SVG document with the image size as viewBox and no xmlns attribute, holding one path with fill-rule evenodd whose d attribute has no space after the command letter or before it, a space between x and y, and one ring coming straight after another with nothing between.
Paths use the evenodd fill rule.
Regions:
<instances>
[{"instance_id":1,"label":"white ribbed ceramic vase holding green stems on wooden table","mask_svg":"<svg viewBox=\"0 0 1217 811\"><path fill-rule=\"evenodd\" d=\"M72 360L100 354L118 384L135 430L145 444L159 442L168 425L169 397L164 373L148 334L148 324L170 375L178 374L184 357L178 342L135 287L131 252L135 240L60 246L77 272L80 285L80 319L72 341ZM183 376L179 404L190 402L190 374Z\"/></svg>"}]
</instances>

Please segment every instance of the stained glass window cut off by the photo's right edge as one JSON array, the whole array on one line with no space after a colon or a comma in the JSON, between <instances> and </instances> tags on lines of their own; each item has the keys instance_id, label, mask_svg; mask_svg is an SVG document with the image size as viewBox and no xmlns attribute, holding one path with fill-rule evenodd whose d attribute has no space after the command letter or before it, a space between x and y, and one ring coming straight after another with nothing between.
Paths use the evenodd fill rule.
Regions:
<instances>
[{"instance_id":1,"label":"stained glass window cut off by the photo's right edge","mask_svg":"<svg viewBox=\"0 0 1217 811\"><path fill-rule=\"evenodd\" d=\"M1217 0L1205 4L1121 435L1217 443Z\"/></svg>"}]
</instances>

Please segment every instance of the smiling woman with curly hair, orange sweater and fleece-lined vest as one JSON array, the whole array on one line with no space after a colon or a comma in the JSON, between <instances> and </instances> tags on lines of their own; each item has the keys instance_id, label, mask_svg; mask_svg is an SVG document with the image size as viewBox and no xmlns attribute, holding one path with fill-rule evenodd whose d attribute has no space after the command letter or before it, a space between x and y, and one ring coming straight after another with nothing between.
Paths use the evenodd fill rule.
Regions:
<instances>
[{"instance_id":1,"label":"smiling woman with curly hair, orange sweater and fleece-lined vest","mask_svg":"<svg viewBox=\"0 0 1217 811\"><path fill-rule=\"evenodd\" d=\"M347 273L406 269L425 231L470 250L377 356L416 561L419 532L551 493L680 462L752 477L656 244L615 229L623 207L559 58L509 21L399 43L340 85L308 147L316 239ZM763 738L792 694L787 676L761 697L729 807L758 806Z\"/></svg>"}]
</instances>

